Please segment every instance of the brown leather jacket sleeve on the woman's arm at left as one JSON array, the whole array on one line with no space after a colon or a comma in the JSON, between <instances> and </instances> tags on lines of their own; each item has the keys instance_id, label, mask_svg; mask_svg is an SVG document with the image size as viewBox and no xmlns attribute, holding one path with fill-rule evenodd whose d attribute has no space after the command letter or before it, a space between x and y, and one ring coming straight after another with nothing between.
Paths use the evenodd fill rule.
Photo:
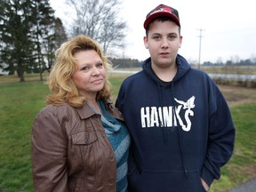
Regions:
<instances>
[{"instance_id":1,"label":"brown leather jacket sleeve on the woman's arm at left","mask_svg":"<svg viewBox=\"0 0 256 192\"><path fill-rule=\"evenodd\" d=\"M68 138L51 111L43 109L32 129L31 155L35 192L67 192Z\"/></svg>"}]
</instances>

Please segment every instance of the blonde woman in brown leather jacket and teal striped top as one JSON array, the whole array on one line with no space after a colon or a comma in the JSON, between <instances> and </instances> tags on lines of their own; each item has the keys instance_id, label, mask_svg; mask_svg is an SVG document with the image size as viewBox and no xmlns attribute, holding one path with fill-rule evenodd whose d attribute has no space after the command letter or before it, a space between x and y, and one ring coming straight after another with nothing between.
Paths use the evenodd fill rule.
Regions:
<instances>
[{"instance_id":1,"label":"blonde woman in brown leather jacket and teal striped top","mask_svg":"<svg viewBox=\"0 0 256 192\"><path fill-rule=\"evenodd\" d=\"M32 131L35 191L126 191L131 140L109 100L110 65L100 44L76 36L55 56L52 93Z\"/></svg>"}]
</instances>

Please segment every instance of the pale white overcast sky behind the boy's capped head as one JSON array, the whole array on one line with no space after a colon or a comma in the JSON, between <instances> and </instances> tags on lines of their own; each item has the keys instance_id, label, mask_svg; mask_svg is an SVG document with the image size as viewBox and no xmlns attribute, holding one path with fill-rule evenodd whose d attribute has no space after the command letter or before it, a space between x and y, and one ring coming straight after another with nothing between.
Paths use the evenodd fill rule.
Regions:
<instances>
[{"instance_id":1,"label":"pale white overcast sky behind the boy's capped head","mask_svg":"<svg viewBox=\"0 0 256 192\"><path fill-rule=\"evenodd\" d=\"M65 0L50 0L57 17L65 24L70 13ZM202 29L201 63L256 58L256 12L252 0L121 0L120 19L127 22L126 48L120 57L145 60L143 22L158 4L167 4L180 14L183 42L179 53L188 60L199 60L199 35ZM171 3L171 4L170 4Z\"/></svg>"}]
</instances>

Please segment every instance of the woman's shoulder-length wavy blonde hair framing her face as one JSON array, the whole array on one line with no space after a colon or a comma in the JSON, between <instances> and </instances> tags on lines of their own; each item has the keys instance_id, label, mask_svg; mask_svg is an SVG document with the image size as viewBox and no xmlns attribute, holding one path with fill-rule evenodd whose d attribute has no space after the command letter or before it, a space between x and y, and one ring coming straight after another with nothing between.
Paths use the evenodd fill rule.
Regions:
<instances>
[{"instance_id":1,"label":"woman's shoulder-length wavy blonde hair framing her face","mask_svg":"<svg viewBox=\"0 0 256 192\"><path fill-rule=\"evenodd\" d=\"M94 50L103 61L103 66L108 71L111 69L111 64L107 57L103 54L100 44L89 36L75 36L67 42L60 45L60 48L55 52L55 62L48 77L47 84L52 93L46 98L47 104L63 105L68 103L75 108L81 108L86 102L86 96L79 94L76 85L73 82L72 76L76 71L77 64L74 54L76 52ZM103 89L97 92L96 100L109 99L111 92L111 84L108 77L105 81Z\"/></svg>"}]
</instances>

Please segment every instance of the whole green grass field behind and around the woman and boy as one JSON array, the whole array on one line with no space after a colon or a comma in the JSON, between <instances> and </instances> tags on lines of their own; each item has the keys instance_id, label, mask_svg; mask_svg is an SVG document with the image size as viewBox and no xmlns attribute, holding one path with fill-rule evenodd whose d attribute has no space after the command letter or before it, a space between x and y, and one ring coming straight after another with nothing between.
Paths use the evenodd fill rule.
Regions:
<instances>
[{"instance_id":1,"label":"whole green grass field behind and around the woman and boy","mask_svg":"<svg viewBox=\"0 0 256 192\"><path fill-rule=\"evenodd\" d=\"M113 100L128 75L110 76ZM13 79L15 81L13 81ZM29 192L32 189L30 134L36 113L44 108L49 92L38 76L26 76L18 83L15 76L0 76L0 191ZM224 192L256 177L256 89L220 86L231 108L236 125L234 156L221 169L220 180L211 192Z\"/></svg>"}]
</instances>

